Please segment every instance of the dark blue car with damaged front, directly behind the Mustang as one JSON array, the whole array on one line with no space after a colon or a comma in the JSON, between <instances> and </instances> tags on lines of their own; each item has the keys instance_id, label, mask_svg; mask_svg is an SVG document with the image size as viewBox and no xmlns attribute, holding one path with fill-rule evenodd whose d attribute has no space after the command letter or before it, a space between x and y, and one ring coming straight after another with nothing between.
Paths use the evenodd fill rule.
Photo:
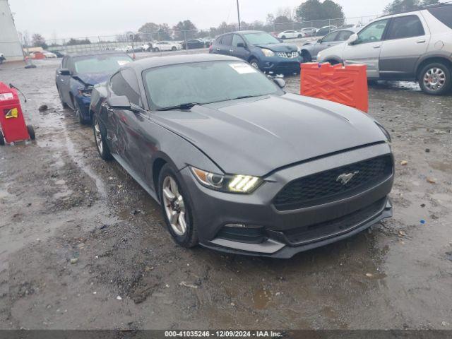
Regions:
<instances>
[{"instance_id":1,"label":"dark blue car with damaged front, directly behind the Mustang","mask_svg":"<svg viewBox=\"0 0 452 339\"><path fill-rule=\"evenodd\" d=\"M129 55L118 52L66 55L55 77L61 104L73 109L81 124L89 124L94 85L107 81L119 67L131 61Z\"/></svg>"}]
</instances>

